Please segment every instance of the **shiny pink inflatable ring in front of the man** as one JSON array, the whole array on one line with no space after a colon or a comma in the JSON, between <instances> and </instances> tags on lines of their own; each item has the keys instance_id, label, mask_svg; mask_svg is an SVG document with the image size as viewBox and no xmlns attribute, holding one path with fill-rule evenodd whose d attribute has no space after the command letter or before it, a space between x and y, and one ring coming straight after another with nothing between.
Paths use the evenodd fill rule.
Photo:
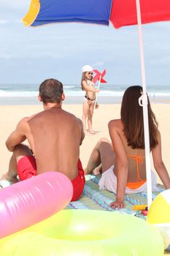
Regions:
<instances>
[{"instance_id":1,"label":"shiny pink inflatable ring in front of the man","mask_svg":"<svg viewBox=\"0 0 170 256\"><path fill-rule=\"evenodd\" d=\"M72 182L47 172L0 190L0 238L41 222L72 199Z\"/></svg>"}]
</instances>

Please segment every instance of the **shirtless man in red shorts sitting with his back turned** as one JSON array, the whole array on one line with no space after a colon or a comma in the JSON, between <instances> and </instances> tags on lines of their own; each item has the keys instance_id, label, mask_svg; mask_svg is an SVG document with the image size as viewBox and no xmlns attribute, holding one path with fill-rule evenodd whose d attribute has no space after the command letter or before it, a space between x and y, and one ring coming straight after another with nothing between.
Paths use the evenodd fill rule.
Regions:
<instances>
[{"instance_id":1,"label":"shirtless man in red shorts sitting with his back turned","mask_svg":"<svg viewBox=\"0 0 170 256\"><path fill-rule=\"evenodd\" d=\"M55 79L45 80L39 86L39 101L44 110L20 120L7 138L6 146L12 151L9 170L1 179L15 182L47 171L65 174L74 187L72 200L82 195L85 185L80 162L80 145L85 137L82 121L63 110L63 85ZM28 140L29 146L23 141Z\"/></svg>"}]
</instances>

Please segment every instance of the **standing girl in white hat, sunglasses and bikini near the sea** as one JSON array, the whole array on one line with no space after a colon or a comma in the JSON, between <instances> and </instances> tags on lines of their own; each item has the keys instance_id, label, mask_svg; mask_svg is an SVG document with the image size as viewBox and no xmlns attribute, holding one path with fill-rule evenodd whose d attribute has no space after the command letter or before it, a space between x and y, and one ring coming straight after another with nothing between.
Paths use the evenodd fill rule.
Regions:
<instances>
[{"instance_id":1,"label":"standing girl in white hat, sunglasses and bikini near the sea","mask_svg":"<svg viewBox=\"0 0 170 256\"><path fill-rule=\"evenodd\" d=\"M85 99L82 102L82 124L84 127L85 135L95 134L92 129L93 110L96 102L96 93L98 89L95 88L93 83L93 68L89 65L82 67L82 91L85 91ZM98 108L98 105L96 105ZM88 130L86 128L86 120L88 119Z\"/></svg>"}]
</instances>

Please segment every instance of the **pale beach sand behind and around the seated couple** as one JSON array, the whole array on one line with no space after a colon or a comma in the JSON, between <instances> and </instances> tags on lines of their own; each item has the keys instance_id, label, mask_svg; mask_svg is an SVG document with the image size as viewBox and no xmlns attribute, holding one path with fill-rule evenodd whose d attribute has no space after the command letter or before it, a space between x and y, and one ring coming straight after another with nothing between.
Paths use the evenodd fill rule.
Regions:
<instances>
[{"instance_id":1,"label":"pale beach sand behind and around the seated couple","mask_svg":"<svg viewBox=\"0 0 170 256\"><path fill-rule=\"evenodd\" d=\"M75 116L81 118L82 105L64 105L63 109L74 113ZM1 132L0 132L0 175L8 170L8 162L11 156L11 152L7 151L5 146L5 140L15 129L18 121L24 116L31 116L34 113L38 113L43 110L42 105L1 105ZM170 173L170 104L152 104L152 110L159 123L159 129L161 131L162 139L162 156L163 162L166 165L167 170ZM109 138L109 132L107 124L109 120L114 118L120 118L120 104L113 105L100 105L98 110L95 110L93 114L93 129L97 132L96 135L86 135L85 140L80 146L80 159L82 160L82 166L85 167L90 156L90 152L93 146L96 145L100 138ZM151 157L152 166L152 157ZM152 169L154 169L152 167ZM161 181L158 178L158 182Z\"/></svg>"}]
</instances>

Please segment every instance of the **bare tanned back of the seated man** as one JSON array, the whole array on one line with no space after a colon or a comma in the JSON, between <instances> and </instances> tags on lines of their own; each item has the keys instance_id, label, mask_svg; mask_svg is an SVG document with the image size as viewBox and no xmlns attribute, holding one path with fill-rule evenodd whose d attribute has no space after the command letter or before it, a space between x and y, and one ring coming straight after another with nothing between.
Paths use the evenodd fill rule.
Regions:
<instances>
[{"instance_id":1,"label":"bare tanned back of the seated man","mask_svg":"<svg viewBox=\"0 0 170 256\"><path fill-rule=\"evenodd\" d=\"M20 125L25 126L36 157L37 174L57 170L71 180L77 176L82 143L80 119L61 108L47 108Z\"/></svg>"}]
</instances>

